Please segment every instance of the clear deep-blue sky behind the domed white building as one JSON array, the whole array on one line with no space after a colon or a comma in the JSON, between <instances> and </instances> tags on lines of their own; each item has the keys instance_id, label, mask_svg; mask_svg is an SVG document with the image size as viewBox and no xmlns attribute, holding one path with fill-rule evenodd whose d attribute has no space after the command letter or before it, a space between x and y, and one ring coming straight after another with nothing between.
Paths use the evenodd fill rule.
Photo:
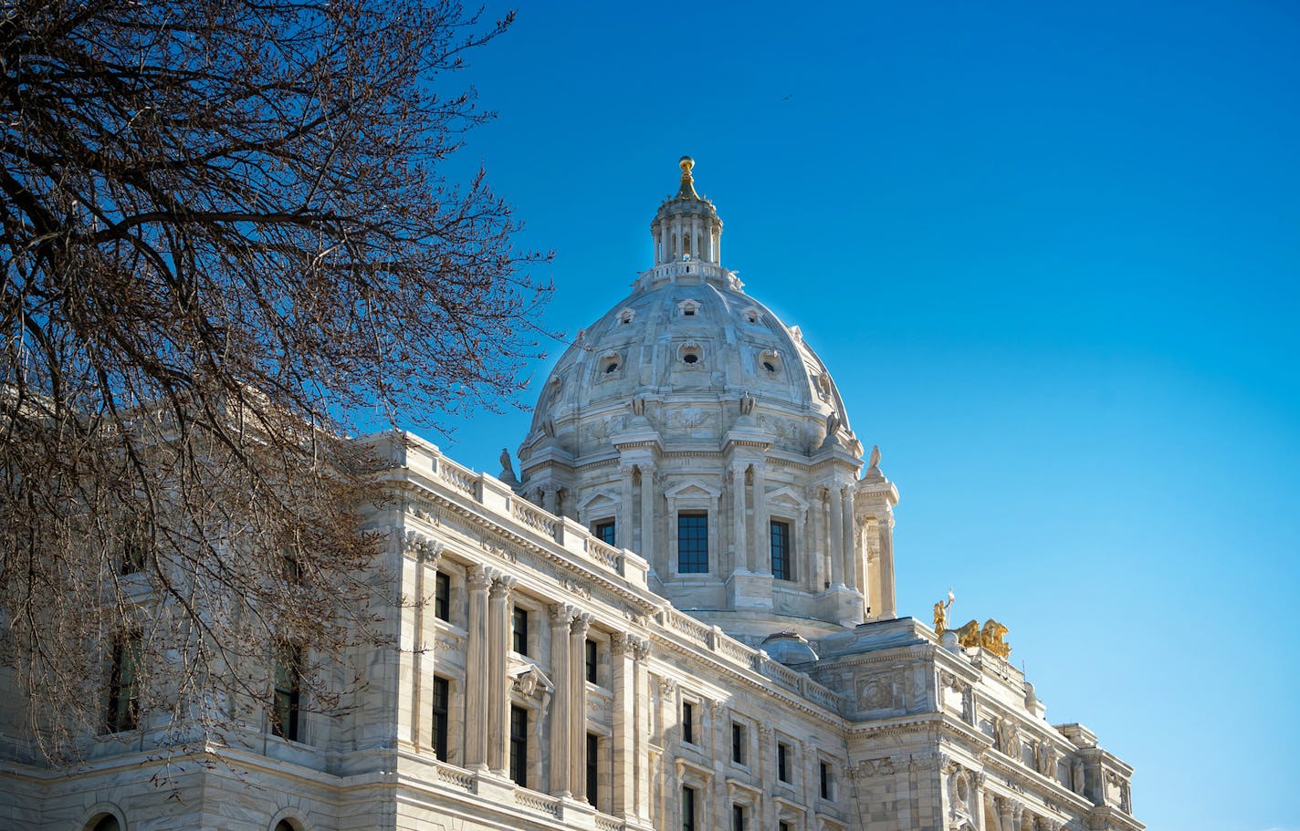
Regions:
<instances>
[{"instance_id":1,"label":"clear deep-blue sky behind the domed white building","mask_svg":"<svg viewBox=\"0 0 1300 831\"><path fill-rule=\"evenodd\" d=\"M552 329L692 155L884 453L901 613L1004 621L1153 830L1300 828L1300 4L525 0L468 58L451 169L554 249ZM526 425L421 431L497 473Z\"/></svg>"}]
</instances>

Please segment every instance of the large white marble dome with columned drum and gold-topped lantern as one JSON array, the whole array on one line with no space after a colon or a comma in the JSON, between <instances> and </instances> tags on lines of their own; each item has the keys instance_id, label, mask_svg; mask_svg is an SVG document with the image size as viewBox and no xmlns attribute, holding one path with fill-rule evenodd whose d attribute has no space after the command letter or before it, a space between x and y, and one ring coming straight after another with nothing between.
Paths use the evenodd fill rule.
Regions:
<instances>
[{"instance_id":1,"label":"large white marble dome with columned drum and gold-topped lantern","mask_svg":"<svg viewBox=\"0 0 1300 831\"><path fill-rule=\"evenodd\" d=\"M654 265L560 357L519 449L528 499L651 565L651 588L750 643L894 617L897 491L798 327L722 265L690 157Z\"/></svg>"}]
</instances>

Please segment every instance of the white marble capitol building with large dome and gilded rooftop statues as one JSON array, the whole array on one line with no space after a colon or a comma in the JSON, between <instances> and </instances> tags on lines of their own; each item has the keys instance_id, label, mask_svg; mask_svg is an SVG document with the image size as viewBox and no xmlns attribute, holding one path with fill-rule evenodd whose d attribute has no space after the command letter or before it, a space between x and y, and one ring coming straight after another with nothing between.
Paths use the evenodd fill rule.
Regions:
<instances>
[{"instance_id":1,"label":"white marble capitol building with large dome and gilded rooftop statues","mask_svg":"<svg viewBox=\"0 0 1300 831\"><path fill-rule=\"evenodd\" d=\"M358 654L359 706L246 725L169 769L179 799L152 783L176 761L148 723L57 770L13 761L6 726L0 827L1144 828L1132 767L1045 718L1005 627L900 614L878 436L722 232L682 158L650 267L497 475L361 439L394 464L368 517L394 596L426 602L386 608L402 648Z\"/></svg>"}]
</instances>

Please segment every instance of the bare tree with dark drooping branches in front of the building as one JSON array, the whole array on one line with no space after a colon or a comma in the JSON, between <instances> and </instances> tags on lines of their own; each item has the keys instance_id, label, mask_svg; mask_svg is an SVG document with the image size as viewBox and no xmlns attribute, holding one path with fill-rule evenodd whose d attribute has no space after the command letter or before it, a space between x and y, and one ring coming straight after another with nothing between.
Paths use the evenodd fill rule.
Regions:
<instances>
[{"instance_id":1,"label":"bare tree with dark drooping branches in front of the building","mask_svg":"<svg viewBox=\"0 0 1300 831\"><path fill-rule=\"evenodd\" d=\"M386 636L358 530L382 462L350 416L508 397L549 292L482 173L439 166L486 117L448 74L508 23L0 10L0 664L46 757L140 713L211 736L274 710L247 667L286 644Z\"/></svg>"}]
</instances>

